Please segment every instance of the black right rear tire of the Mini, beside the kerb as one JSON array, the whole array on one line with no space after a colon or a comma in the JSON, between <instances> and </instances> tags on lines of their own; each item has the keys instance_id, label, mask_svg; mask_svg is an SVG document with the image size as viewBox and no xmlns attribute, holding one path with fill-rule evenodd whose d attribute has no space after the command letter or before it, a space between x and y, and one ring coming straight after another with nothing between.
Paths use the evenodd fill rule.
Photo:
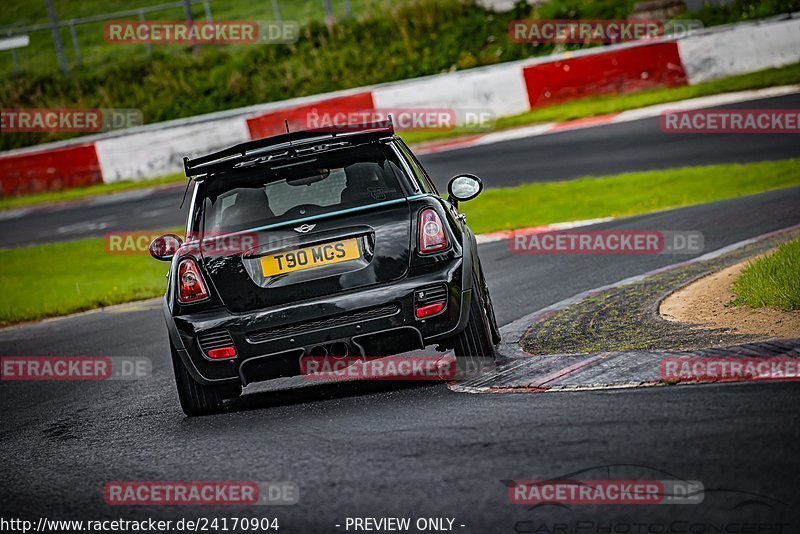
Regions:
<instances>
[{"instance_id":1,"label":"black right rear tire of the Mini, beside the kerb","mask_svg":"<svg viewBox=\"0 0 800 534\"><path fill-rule=\"evenodd\" d=\"M481 283L473 280L467 326L454 339L457 378L468 378L493 366L494 345Z\"/></svg>"}]
</instances>

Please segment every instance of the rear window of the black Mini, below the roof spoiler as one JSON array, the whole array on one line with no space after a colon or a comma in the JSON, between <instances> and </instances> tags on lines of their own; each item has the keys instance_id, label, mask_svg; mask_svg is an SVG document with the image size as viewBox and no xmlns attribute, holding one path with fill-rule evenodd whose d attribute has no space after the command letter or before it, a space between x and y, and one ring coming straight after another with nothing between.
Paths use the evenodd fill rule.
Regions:
<instances>
[{"instance_id":1,"label":"rear window of the black Mini, below the roof spoiler","mask_svg":"<svg viewBox=\"0 0 800 534\"><path fill-rule=\"evenodd\" d=\"M204 184L204 231L226 233L403 198L402 171L386 145L260 164Z\"/></svg>"}]
</instances>

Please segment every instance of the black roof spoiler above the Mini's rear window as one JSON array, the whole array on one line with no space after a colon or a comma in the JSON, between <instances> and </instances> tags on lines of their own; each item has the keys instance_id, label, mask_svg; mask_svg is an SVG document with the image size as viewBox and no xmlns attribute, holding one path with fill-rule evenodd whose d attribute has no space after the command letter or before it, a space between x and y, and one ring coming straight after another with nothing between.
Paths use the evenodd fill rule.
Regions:
<instances>
[{"instance_id":1,"label":"black roof spoiler above the Mini's rear window","mask_svg":"<svg viewBox=\"0 0 800 534\"><path fill-rule=\"evenodd\" d=\"M255 141L246 141L230 148L213 152L206 156L194 159L183 158L183 170L188 178L213 174L222 170L232 169L237 164L243 163L254 157L261 157L270 149L292 149L298 146L307 147L317 143L324 143L331 139L352 143L378 140L394 135L392 117L381 122L366 124L327 126L312 130L288 131L285 134L273 135Z\"/></svg>"}]
</instances>

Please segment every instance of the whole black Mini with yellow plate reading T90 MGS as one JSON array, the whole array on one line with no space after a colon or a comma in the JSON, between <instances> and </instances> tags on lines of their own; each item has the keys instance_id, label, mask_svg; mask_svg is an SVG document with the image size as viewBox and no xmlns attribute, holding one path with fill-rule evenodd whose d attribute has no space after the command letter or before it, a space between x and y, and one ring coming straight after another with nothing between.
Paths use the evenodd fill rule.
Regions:
<instances>
[{"instance_id":1,"label":"whole black Mini with yellow plate reading T90 MGS","mask_svg":"<svg viewBox=\"0 0 800 534\"><path fill-rule=\"evenodd\" d=\"M219 410L249 383L301 374L308 356L400 354L428 345L494 361L500 335L454 177L442 198L390 121L250 141L195 159L186 241L164 315L181 407Z\"/></svg>"}]
</instances>

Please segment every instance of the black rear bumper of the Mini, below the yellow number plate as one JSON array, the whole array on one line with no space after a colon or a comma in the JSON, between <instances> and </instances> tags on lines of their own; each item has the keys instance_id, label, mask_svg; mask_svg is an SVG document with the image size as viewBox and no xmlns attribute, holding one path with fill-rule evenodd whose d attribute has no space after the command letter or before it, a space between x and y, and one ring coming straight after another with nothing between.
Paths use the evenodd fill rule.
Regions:
<instances>
[{"instance_id":1,"label":"black rear bumper of the Mini, below the yellow number plate","mask_svg":"<svg viewBox=\"0 0 800 534\"><path fill-rule=\"evenodd\" d=\"M216 309L172 317L167 301L164 314L170 341L192 377L201 384L242 382L293 376L299 360L314 347L344 342L351 353L379 356L421 349L458 334L466 326L471 298L471 257L409 276L396 283L339 293L246 314ZM418 320L414 295L421 288L446 284L447 307ZM237 357L213 361L198 338L226 330Z\"/></svg>"}]
</instances>

